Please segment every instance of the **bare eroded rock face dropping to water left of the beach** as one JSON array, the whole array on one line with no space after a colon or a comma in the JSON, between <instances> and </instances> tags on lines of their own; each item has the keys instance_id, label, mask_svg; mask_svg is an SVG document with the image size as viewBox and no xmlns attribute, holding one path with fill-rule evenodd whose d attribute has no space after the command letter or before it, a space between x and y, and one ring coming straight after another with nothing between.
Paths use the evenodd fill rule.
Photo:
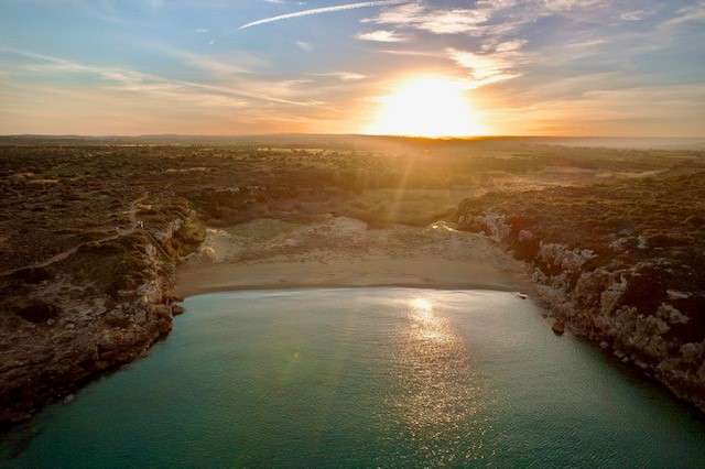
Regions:
<instances>
[{"instance_id":1,"label":"bare eroded rock face dropping to water left of the beach","mask_svg":"<svg viewBox=\"0 0 705 469\"><path fill-rule=\"evenodd\" d=\"M29 418L97 373L142 357L169 334L172 309L160 303L173 279L152 247L142 252L145 281L119 292L119 301L58 276L19 305L22 314L8 312L0 335L0 424Z\"/></svg>"}]
</instances>

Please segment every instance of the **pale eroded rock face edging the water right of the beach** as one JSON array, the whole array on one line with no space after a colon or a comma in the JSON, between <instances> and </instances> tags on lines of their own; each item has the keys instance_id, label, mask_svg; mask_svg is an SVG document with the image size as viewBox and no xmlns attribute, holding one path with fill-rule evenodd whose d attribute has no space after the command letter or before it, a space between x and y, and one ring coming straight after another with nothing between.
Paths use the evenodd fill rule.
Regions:
<instances>
[{"instance_id":1,"label":"pale eroded rock face edging the water right of the beach","mask_svg":"<svg viewBox=\"0 0 705 469\"><path fill-rule=\"evenodd\" d=\"M593 250L540 240L512 226L510 217L471 212L462 217L465 229L484 231L530 263L531 279L555 318L557 334L568 326L705 411L705 338L687 330L705 298L696 292L669 290L673 270L665 261L607 270L592 264L598 258ZM628 240L607 248L625 247ZM646 249L646 240L639 239L638 246L634 241L633 249Z\"/></svg>"}]
</instances>

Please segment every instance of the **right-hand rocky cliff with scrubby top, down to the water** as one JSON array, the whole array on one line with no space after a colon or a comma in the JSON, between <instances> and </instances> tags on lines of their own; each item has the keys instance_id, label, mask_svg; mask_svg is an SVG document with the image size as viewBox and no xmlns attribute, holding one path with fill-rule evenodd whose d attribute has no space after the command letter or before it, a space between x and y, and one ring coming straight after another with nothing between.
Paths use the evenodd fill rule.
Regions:
<instances>
[{"instance_id":1,"label":"right-hand rocky cliff with scrubby top, down to the water","mask_svg":"<svg viewBox=\"0 0 705 469\"><path fill-rule=\"evenodd\" d=\"M692 187L703 190L704 178L698 175ZM672 219L687 226L692 218L676 206L664 208L671 220L651 217L643 230L637 217L614 219L622 200L604 205L600 218L587 215L589 206L563 199L573 193L468 199L456 219L462 229L485 232L528 263L558 329L565 325L594 340L705 411L704 259L696 241L702 227L688 226L684 234Z\"/></svg>"}]
</instances>

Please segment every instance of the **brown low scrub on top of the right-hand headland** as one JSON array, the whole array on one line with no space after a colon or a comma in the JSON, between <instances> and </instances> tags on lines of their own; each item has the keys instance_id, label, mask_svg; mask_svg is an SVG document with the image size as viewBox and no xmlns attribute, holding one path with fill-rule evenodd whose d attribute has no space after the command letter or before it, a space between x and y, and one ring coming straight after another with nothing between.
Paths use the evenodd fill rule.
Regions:
<instances>
[{"instance_id":1,"label":"brown low scrub on top of the right-hand headland","mask_svg":"<svg viewBox=\"0 0 705 469\"><path fill-rule=\"evenodd\" d=\"M514 255L545 274L557 274L561 266L536 259L540 242L590 250L595 257L583 271L644 265L628 298L640 314L655 314L669 290L691 292L672 303L693 320L672 334L705 337L705 171L670 168L658 176L492 193L466 200L459 211L480 215L488 209L507 215L511 233L505 241ZM533 237L520 239L522 230ZM574 272L571 282L583 271Z\"/></svg>"}]
</instances>

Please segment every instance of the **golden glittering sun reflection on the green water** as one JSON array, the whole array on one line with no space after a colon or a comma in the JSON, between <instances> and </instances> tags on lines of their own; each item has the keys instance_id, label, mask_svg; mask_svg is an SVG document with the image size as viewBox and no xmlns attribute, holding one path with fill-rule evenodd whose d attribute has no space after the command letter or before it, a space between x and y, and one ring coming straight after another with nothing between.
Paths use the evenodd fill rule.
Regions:
<instances>
[{"instance_id":1,"label":"golden glittering sun reflection on the green water","mask_svg":"<svg viewBox=\"0 0 705 469\"><path fill-rule=\"evenodd\" d=\"M463 339L432 299L416 297L405 306L409 327L398 350L398 392L391 404L401 413L415 450L430 462L481 460L482 438L491 422L486 400ZM469 436L469 438L468 438Z\"/></svg>"}]
</instances>

